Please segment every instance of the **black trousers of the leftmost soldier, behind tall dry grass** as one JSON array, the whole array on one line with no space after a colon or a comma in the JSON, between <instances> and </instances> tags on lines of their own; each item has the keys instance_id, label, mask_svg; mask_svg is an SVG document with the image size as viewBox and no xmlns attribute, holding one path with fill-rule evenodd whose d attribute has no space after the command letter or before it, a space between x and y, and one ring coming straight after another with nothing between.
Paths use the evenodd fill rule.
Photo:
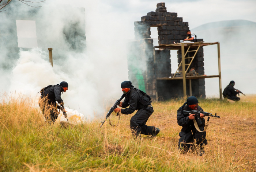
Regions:
<instances>
[{"instance_id":1,"label":"black trousers of the leftmost soldier, behind tall dry grass","mask_svg":"<svg viewBox=\"0 0 256 172\"><path fill-rule=\"evenodd\" d=\"M56 102L39 100L39 107L44 114L45 122L53 123L57 120L59 112L57 110Z\"/></svg>"}]
</instances>

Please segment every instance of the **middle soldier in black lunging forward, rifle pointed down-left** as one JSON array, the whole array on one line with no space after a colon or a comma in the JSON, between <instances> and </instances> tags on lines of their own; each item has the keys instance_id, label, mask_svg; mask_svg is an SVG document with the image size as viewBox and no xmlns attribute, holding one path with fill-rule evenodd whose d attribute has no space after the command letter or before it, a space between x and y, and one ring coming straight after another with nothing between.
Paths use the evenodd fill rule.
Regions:
<instances>
[{"instance_id":1,"label":"middle soldier in black lunging forward, rifle pointed down-left","mask_svg":"<svg viewBox=\"0 0 256 172\"><path fill-rule=\"evenodd\" d=\"M124 108L129 106L129 108L116 108L114 109L114 112L117 113L121 111L121 113L128 115L133 113L135 110L138 110L130 121L133 136L140 137L140 134L151 135L153 137L157 136L160 129L146 125L148 118L154 112L149 95L134 88L131 81L122 82L121 88L123 93L126 95L124 101L121 102L119 106Z\"/></svg>"}]
</instances>

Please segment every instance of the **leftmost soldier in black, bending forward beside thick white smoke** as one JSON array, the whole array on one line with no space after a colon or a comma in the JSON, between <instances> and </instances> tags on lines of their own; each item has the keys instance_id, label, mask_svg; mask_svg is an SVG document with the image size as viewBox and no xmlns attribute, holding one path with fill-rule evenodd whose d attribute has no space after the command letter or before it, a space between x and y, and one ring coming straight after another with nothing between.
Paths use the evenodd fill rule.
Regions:
<instances>
[{"instance_id":1,"label":"leftmost soldier in black, bending forward beside thick white smoke","mask_svg":"<svg viewBox=\"0 0 256 172\"><path fill-rule=\"evenodd\" d=\"M64 109L64 102L61 99L61 93L64 91L66 92L68 90L68 83L65 81L62 81L57 85L49 85L45 88L43 88L41 92L41 97L39 99L39 106L40 109L42 110L42 113L45 116L46 122L54 122L58 118L58 110L60 108L63 108L62 110L65 111ZM57 105L56 101L61 105ZM67 118L67 116L65 116Z\"/></svg>"}]
</instances>

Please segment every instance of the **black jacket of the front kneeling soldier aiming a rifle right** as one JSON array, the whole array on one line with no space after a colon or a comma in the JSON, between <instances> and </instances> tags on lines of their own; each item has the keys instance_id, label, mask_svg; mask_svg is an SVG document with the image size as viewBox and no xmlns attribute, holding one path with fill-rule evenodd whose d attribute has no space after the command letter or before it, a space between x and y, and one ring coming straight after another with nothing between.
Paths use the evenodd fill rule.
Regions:
<instances>
[{"instance_id":1,"label":"black jacket of the front kneeling soldier aiming a rifle right","mask_svg":"<svg viewBox=\"0 0 256 172\"><path fill-rule=\"evenodd\" d=\"M178 110L177 110L177 120L178 120L178 125L182 126L182 129L181 131L183 132L189 132L191 130L193 130L195 128L194 126L194 121L193 120L190 120L188 118L189 114L187 115L184 115L182 113L183 110L187 110L187 111L191 111L192 109L189 108L188 105L185 105L184 109L182 109L182 107L180 107ZM203 110L200 106L197 107L197 110ZM201 118L201 121L203 124L205 124L205 120L204 118ZM205 125L199 127L200 129L204 128ZM202 130L201 129L201 130Z\"/></svg>"}]
</instances>

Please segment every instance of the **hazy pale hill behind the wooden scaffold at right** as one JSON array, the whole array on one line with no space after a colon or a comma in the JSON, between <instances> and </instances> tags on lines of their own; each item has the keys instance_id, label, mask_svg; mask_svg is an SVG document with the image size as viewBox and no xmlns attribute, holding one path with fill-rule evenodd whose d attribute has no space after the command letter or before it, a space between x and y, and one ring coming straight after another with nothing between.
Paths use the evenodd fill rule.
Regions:
<instances>
[{"instance_id":1,"label":"hazy pale hill behind the wooden scaffold at right","mask_svg":"<svg viewBox=\"0 0 256 172\"><path fill-rule=\"evenodd\" d=\"M256 93L255 42L256 23L248 20L230 20L203 24L191 29L204 42L220 42L222 90L231 80L245 93ZM217 46L204 47L207 75L218 74ZM217 83L214 83L217 82ZM218 95L218 78L206 79L206 94Z\"/></svg>"}]
</instances>

